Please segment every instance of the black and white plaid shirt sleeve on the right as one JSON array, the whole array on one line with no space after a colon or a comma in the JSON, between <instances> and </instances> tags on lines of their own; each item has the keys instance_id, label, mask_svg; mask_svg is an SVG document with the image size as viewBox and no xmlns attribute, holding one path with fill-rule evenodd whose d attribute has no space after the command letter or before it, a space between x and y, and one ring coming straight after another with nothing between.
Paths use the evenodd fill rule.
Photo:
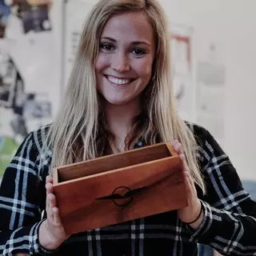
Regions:
<instances>
[{"instance_id":1,"label":"black and white plaid shirt sleeve on the right","mask_svg":"<svg viewBox=\"0 0 256 256\"><path fill-rule=\"evenodd\" d=\"M206 182L205 217L190 242L209 245L223 255L256 255L256 202L208 131L200 156Z\"/></svg>"}]
</instances>

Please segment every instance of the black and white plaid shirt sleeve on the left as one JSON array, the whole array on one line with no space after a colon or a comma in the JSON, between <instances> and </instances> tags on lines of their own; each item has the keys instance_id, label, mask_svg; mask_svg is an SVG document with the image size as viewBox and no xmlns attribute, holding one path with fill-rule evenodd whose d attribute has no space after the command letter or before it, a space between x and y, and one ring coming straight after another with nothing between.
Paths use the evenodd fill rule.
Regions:
<instances>
[{"instance_id":1,"label":"black and white plaid shirt sleeve on the left","mask_svg":"<svg viewBox=\"0 0 256 256\"><path fill-rule=\"evenodd\" d=\"M36 140L35 140L36 139ZM38 174L38 136L29 134L6 168L0 187L0 255L50 254L38 242L45 190Z\"/></svg>"}]
</instances>

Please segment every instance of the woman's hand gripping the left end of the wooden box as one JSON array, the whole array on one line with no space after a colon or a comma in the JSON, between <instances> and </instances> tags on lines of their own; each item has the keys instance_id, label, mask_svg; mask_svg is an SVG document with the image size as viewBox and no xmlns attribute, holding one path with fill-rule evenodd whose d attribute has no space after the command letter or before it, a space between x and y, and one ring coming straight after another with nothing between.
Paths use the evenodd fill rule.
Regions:
<instances>
[{"instance_id":1,"label":"woman's hand gripping the left end of the wooden box","mask_svg":"<svg viewBox=\"0 0 256 256\"><path fill-rule=\"evenodd\" d=\"M69 235L66 234L58 214L53 179L50 176L46 177L46 213L47 219L39 227L39 242L46 250L55 250Z\"/></svg>"}]
</instances>

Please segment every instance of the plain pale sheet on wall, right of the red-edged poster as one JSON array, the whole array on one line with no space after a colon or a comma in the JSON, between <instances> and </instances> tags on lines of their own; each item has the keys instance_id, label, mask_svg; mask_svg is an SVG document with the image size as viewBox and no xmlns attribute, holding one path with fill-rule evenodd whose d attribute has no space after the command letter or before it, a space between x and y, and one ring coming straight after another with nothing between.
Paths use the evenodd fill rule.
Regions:
<instances>
[{"instance_id":1,"label":"plain pale sheet on wall, right of the red-edged poster","mask_svg":"<svg viewBox=\"0 0 256 256\"><path fill-rule=\"evenodd\" d=\"M224 146L225 137L225 66L198 62L197 122Z\"/></svg>"}]
</instances>

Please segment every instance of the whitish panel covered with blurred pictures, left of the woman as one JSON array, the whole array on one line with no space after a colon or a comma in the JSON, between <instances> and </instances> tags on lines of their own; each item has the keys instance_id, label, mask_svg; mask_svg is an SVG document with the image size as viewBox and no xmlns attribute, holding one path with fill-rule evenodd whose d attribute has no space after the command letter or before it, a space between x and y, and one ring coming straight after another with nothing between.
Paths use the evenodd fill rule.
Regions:
<instances>
[{"instance_id":1,"label":"whitish panel covered with blurred pictures, left of the woman","mask_svg":"<svg viewBox=\"0 0 256 256\"><path fill-rule=\"evenodd\" d=\"M58 102L50 0L0 0L0 176Z\"/></svg>"}]
</instances>

